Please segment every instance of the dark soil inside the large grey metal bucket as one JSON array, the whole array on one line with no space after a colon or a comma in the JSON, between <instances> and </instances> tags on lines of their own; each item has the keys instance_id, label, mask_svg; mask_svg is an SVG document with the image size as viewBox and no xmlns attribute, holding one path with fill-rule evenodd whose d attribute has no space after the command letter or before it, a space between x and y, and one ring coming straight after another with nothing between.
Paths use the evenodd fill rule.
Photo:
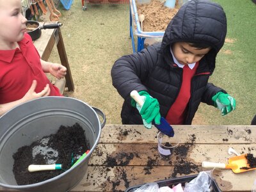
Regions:
<instances>
[{"instance_id":1,"label":"dark soil inside the large grey metal bucket","mask_svg":"<svg viewBox=\"0 0 256 192\"><path fill-rule=\"evenodd\" d=\"M13 154L13 173L18 185L34 184L65 172L81 157L90 145L79 124L60 126L56 134L44 136ZM62 164L61 170L29 172L30 164Z\"/></svg>"}]
</instances>

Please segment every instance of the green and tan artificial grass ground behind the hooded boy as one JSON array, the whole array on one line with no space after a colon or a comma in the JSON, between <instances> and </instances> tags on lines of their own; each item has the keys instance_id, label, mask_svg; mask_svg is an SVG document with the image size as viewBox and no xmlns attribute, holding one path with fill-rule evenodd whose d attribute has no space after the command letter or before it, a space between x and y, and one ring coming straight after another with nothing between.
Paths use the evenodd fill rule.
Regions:
<instances>
[{"instance_id":1,"label":"green and tan artificial grass ground behind the hooded boy","mask_svg":"<svg viewBox=\"0 0 256 192\"><path fill-rule=\"evenodd\" d=\"M220 3L228 22L228 41L218 54L210 81L227 90L237 101L237 109L221 116L218 109L201 104L195 124L250 124L256 113L256 5L251 0L214 0ZM112 86L110 70L120 56L132 53L129 38L129 4L87 4L74 1L63 14L61 32L75 85L65 95L101 109L107 124L121 124L123 99ZM136 38L136 36L135 36ZM56 49L51 61L60 62Z\"/></svg>"}]
</instances>

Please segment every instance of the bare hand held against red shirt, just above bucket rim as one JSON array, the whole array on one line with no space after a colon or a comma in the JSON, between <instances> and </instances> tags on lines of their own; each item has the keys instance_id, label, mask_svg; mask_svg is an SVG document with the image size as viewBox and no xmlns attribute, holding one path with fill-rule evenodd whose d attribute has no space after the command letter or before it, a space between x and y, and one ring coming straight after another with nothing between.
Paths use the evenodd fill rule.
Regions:
<instances>
[{"instance_id":1,"label":"bare hand held against red shirt, just above bucket rim","mask_svg":"<svg viewBox=\"0 0 256 192\"><path fill-rule=\"evenodd\" d=\"M39 97L45 97L48 96L51 92L51 89L49 87L49 84L46 84L46 86L44 87L44 90L42 90L42 92L36 93L35 92L35 88L36 88L36 80L33 80L31 87L29 88L28 92L24 95L24 97L22 97L22 100L24 102L28 101L28 100L32 100L32 99L36 99Z\"/></svg>"}]
</instances>

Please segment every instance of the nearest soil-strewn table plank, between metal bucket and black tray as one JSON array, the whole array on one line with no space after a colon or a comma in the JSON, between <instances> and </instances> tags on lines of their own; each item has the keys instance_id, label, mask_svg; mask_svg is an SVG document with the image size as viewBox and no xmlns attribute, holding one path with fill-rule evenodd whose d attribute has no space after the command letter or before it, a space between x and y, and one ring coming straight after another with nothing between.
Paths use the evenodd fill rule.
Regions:
<instances>
[{"instance_id":1,"label":"nearest soil-strewn table plank, between metal bucket and black tray","mask_svg":"<svg viewBox=\"0 0 256 192\"><path fill-rule=\"evenodd\" d=\"M141 166L89 166L88 176L71 191L124 191L136 184L168 179L172 172L172 166L154 167L150 174Z\"/></svg>"}]
</instances>

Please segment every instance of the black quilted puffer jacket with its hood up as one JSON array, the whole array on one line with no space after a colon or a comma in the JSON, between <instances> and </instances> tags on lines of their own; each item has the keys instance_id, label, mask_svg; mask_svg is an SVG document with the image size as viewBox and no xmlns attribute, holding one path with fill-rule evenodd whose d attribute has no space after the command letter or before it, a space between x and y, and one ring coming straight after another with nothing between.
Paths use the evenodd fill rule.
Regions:
<instances>
[{"instance_id":1,"label":"black quilted puffer jacket with its hood up","mask_svg":"<svg viewBox=\"0 0 256 192\"><path fill-rule=\"evenodd\" d=\"M137 109L131 106L132 90L145 90L160 104L161 116L177 98L182 84L182 68L173 65L170 45L174 42L205 42L212 49L200 60L191 81L191 98L184 124L191 124L200 102L214 105L211 98L225 90L208 83L215 68L216 54L224 44L227 33L225 12L219 4L207 0L192 0L184 4L168 24L162 43L122 56L111 70L113 86L125 99L122 107L123 124L142 124Z\"/></svg>"}]
</instances>

